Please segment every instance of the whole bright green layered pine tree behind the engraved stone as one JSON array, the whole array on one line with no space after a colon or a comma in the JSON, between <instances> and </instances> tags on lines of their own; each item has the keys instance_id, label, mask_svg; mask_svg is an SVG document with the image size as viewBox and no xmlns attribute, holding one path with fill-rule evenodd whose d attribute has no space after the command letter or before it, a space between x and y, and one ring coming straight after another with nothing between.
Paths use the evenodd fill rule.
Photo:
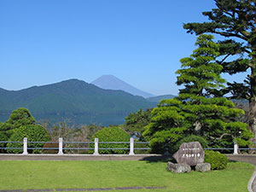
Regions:
<instances>
[{"instance_id":1,"label":"whole bright green layered pine tree behind the engraved stone","mask_svg":"<svg viewBox=\"0 0 256 192\"><path fill-rule=\"evenodd\" d=\"M183 89L177 98L163 100L153 109L143 132L152 152L163 153L166 138L173 148L173 143L191 134L204 137L211 146L231 145L234 140L246 144L252 137L247 125L237 120L243 111L223 97L224 67L216 61L220 45L212 39L212 35L196 39L197 49L180 60L182 68L177 70L177 84Z\"/></svg>"}]
</instances>

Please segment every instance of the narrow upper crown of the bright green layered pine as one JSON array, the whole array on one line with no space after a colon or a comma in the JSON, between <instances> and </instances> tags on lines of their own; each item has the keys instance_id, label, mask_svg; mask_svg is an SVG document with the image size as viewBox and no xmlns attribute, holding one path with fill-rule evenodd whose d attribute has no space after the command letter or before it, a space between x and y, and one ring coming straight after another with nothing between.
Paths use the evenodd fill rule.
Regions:
<instances>
[{"instance_id":1,"label":"narrow upper crown of the bright green layered pine","mask_svg":"<svg viewBox=\"0 0 256 192\"><path fill-rule=\"evenodd\" d=\"M177 70L177 85L184 85L180 94L210 96L212 90L224 87L225 80L220 77L223 69L216 63L219 46L212 35L201 35L196 39L197 49L189 57L181 59L182 68Z\"/></svg>"}]
</instances>

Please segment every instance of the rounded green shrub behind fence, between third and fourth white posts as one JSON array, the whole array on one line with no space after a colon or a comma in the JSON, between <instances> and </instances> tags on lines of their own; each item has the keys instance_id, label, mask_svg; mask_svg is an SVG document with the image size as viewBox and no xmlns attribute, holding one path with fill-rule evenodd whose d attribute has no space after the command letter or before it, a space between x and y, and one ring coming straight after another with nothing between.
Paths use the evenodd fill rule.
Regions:
<instances>
[{"instance_id":1,"label":"rounded green shrub behind fence, between third and fourth white posts","mask_svg":"<svg viewBox=\"0 0 256 192\"><path fill-rule=\"evenodd\" d=\"M119 128L118 126L111 126L97 131L92 137L91 142L98 138L99 142L129 142L130 135ZM90 144L90 148L94 148L94 144ZM99 148L130 148L129 143L99 143ZM100 154L127 154L127 149L99 149Z\"/></svg>"}]
</instances>

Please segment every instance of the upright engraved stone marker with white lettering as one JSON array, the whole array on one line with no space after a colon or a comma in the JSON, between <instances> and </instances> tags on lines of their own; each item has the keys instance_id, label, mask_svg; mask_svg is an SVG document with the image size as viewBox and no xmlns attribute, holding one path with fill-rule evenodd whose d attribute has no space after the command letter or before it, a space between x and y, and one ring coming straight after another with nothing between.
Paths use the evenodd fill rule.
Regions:
<instances>
[{"instance_id":1,"label":"upright engraved stone marker with white lettering","mask_svg":"<svg viewBox=\"0 0 256 192\"><path fill-rule=\"evenodd\" d=\"M178 151L173 154L173 158L178 164L188 164L196 166L205 160L205 152L199 142L182 143Z\"/></svg>"}]
</instances>

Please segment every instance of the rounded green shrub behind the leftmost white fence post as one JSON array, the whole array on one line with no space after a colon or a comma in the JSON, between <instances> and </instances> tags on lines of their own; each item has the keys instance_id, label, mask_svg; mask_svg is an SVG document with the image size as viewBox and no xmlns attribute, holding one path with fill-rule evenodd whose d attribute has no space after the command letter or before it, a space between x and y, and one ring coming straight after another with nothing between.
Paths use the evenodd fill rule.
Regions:
<instances>
[{"instance_id":1,"label":"rounded green shrub behind the leftmost white fence post","mask_svg":"<svg viewBox=\"0 0 256 192\"><path fill-rule=\"evenodd\" d=\"M28 142L48 142L50 140L49 132L47 132L41 125L23 125L14 130L14 133L9 138L12 142L22 142L23 138L27 137ZM9 148L22 148L22 143L8 143ZM44 143L28 143L28 148L42 148ZM41 149L30 149L29 153L38 154L41 153ZM22 152L21 149L8 149L8 153L19 154Z\"/></svg>"}]
</instances>

